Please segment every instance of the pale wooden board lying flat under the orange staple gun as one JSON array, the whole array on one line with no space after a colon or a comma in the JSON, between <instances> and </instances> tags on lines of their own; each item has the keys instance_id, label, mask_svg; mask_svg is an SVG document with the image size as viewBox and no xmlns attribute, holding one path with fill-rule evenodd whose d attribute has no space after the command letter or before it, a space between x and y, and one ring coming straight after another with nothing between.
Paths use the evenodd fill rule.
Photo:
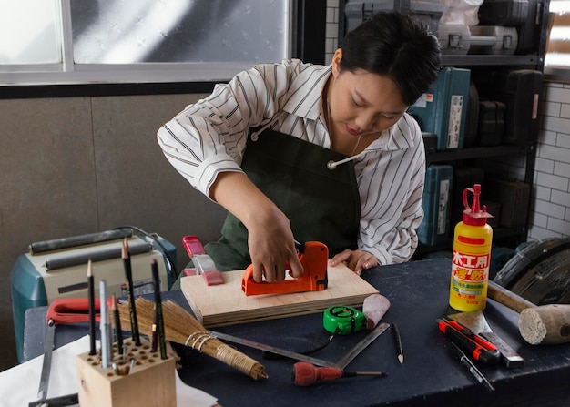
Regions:
<instances>
[{"instance_id":1,"label":"pale wooden board lying flat under the orange staple gun","mask_svg":"<svg viewBox=\"0 0 570 407\"><path fill-rule=\"evenodd\" d=\"M242 275L243 270L225 271L224 284L213 286L202 276L180 280L186 300L206 328L322 312L337 304L360 307L366 297L378 293L344 265L329 268L328 288L322 291L246 296Z\"/></svg>"}]
</instances>

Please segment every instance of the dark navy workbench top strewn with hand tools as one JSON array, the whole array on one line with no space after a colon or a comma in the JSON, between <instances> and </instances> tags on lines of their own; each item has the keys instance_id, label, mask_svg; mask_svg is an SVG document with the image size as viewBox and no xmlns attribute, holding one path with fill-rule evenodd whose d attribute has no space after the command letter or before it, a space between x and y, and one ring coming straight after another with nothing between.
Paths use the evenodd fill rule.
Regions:
<instances>
[{"instance_id":1,"label":"dark navy workbench top strewn with hand tools","mask_svg":"<svg viewBox=\"0 0 570 407\"><path fill-rule=\"evenodd\" d=\"M396 356L392 330L385 331L367 347L346 371L385 371L388 377L352 377L317 382L308 387L291 382L294 361L266 359L263 352L235 345L239 351L260 361L269 379L254 381L229 366L182 346L180 378L189 385L217 397L219 404L233 406L568 406L570 405L570 343L529 345L521 338L518 314L494 300L487 301L484 315L491 328L524 358L521 369L476 363L493 384L487 392L447 349L447 338L436 319L456 312L449 308L451 261L429 259L365 270L368 280L391 301L384 322L396 322L402 337L404 361ZM163 293L188 311L180 291ZM43 352L46 307L25 315L24 358ZM215 328L214 331L262 342L291 351L316 347L329 337L323 329L322 313L280 320L258 321ZM338 361L366 331L336 336L323 351L314 354ZM56 346L87 334L87 325L56 329Z\"/></svg>"}]
</instances>

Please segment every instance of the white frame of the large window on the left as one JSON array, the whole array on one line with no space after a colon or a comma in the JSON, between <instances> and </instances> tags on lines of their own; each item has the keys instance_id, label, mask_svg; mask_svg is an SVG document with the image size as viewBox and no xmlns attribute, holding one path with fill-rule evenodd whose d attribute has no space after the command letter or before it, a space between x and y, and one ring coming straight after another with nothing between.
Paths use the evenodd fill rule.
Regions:
<instances>
[{"instance_id":1,"label":"white frame of the large window on the left","mask_svg":"<svg viewBox=\"0 0 570 407\"><path fill-rule=\"evenodd\" d=\"M291 55L293 40L292 3L292 0L288 2L287 19L289 26L284 57ZM250 62L75 64L70 0L60 0L60 7L62 62L58 64L2 66L0 86L217 82L229 80L240 71L252 66Z\"/></svg>"}]
</instances>

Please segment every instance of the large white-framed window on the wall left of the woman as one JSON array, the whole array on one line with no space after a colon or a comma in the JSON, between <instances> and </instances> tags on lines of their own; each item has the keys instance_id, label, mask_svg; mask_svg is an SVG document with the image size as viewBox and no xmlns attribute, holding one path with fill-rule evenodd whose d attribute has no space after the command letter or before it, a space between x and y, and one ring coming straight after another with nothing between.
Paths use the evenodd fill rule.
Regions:
<instances>
[{"instance_id":1,"label":"large white-framed window on the wall left of the woman","mask_svg":"<svg viewBox=\"0 0 570 407\"><path fill-rule=\"evenodd\" d=\"M290 31L288 0L0 0L0 82L226 80Z\"/></svg>"}]
</instances>

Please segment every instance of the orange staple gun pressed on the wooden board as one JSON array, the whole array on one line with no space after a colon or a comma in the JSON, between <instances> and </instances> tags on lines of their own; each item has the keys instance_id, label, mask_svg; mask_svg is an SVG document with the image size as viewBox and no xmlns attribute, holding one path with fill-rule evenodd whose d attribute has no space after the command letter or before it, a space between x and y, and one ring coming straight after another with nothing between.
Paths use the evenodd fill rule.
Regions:
<instances>
[{"instance_id":1,"label":"orange staple gun pressed on the wooden board","mask_svg":"<svg viewBox=\"0 0 570 407\"><path fill-rule=\"evenodd\" d=\"M253 280L253 265L250 265L241 278L241 290L246 295L287 294L291 292L321 291L328 285L327 266L329 249L318 241L308 241L298 253L303 274L300 277L282 281L256 282ZM285 265L290 269L290 265Z\"/></svg>"}]
</instances>

